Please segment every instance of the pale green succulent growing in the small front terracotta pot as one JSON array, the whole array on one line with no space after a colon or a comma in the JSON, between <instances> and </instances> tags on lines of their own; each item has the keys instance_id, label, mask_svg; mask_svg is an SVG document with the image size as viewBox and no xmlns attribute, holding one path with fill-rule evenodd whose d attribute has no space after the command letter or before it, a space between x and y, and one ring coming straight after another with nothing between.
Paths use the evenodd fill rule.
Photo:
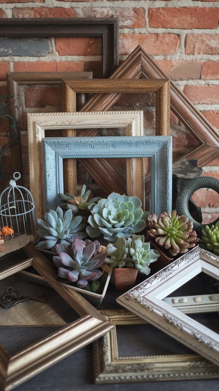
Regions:
<instances>
[{"instance_id":1,"label":"pale green succulent growing in the small front terracotta pot","mask_svg":"<svg viewBox=\"0 0 219 391\"><path fill-rule=\"evenodd\" d=\"M107 253L111 257L106 258L110 267L135 267L147 275L150 273L147 265L160 256L157 250L150 249L150 243L144 243L144 235L132 235L128 240L118 238L114 246L107 248Z\"/></svg>"}]
</instances>

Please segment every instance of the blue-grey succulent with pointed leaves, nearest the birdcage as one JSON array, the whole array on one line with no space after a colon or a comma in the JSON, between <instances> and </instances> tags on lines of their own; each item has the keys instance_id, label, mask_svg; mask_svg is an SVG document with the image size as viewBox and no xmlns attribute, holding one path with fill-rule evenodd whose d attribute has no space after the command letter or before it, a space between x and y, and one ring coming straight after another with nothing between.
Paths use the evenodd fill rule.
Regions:
<instances>
[{"instance_id":1,"label":"blue-grey succulent with pointed leaves, nearest the birdcage","mask_svg":"<svg viewBox=\"0 0 219 391\"><path fill-rule=\"evenodd\" d=\"M82 217L73 217L71 210L67 210L63 217L63 211L58 206L56 211L51 209L44 218L45 221L37 219L37 224L40 227L37 230L37 235L41 239L45 239L38 242L37 247L40 249L52 249L51 251L53 251L57 243L68 246L73 242L75 235L78 235L80 239L87 236L85 232L81 232L85 228L85 224L80 224Z\"/></svg>"}]
</instances>

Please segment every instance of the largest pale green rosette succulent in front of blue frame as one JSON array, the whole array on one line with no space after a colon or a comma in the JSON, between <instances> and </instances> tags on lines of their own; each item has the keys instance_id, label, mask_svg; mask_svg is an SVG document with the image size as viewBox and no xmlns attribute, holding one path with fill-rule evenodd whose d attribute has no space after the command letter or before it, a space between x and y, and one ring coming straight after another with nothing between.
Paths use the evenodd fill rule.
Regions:
<instances>
[{"instance_id":1,"label":"largest pale green rosette succulent in front of blue frame","mask_svg":"<svg viewBox=\"0 0 219 391\"><path fill-rule=\"evenodd\" d=\"M102 198L98 204L90 204L88 209L92 215L88 218L90 224L86 232L90 237L104 234L104 239L114 242L118 237L130 237L133 233L142 231L146 226L148 212L141 209L138 197L111 193L107 199Z\"/></svg>"}]
</instances>

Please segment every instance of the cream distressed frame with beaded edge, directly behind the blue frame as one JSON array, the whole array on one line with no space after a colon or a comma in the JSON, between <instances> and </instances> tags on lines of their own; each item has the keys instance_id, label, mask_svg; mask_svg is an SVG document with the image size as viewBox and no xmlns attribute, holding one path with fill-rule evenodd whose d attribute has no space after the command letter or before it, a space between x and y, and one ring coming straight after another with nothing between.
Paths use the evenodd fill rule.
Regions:
<instances>
[{"instance_id":1,"label":"cream distressed frame with beaded edge, directly behind the blue frame","mask_svg":"<svg viewBox=\"0 0 219 391\"><path fill-rule=\"evenodd\" d=\"M29 172L30 192L33 194L35 203L35 215L37 218L48 212L44 200L44 181L42 169L42 138L45 137L46 129L72 129L76 136L76 129L92 129L95 127L124 127L127 136L143 135L142 111L107 111L98 113L30 113L28 119L28 151L29 151ZM86 130L84 130L84 133ZM73 194L77 194L77 169L76 159L73 163ZM108 162L107 162L108 163ZM144 164L143 159L133 158L127 160L127 185L125 188L129 195L139 195L144 208ZM133 174L135 172L135 176ZM114 188L119 187L116 171L114 174ZM105 178L103 178L105 182ZM126 187L127 186L127 187ZM66 190L67 191L67 190ZM135 193L136 192L136 193ZM134 194L135 193L135 194Z\"/></svg>"}]
</instances>

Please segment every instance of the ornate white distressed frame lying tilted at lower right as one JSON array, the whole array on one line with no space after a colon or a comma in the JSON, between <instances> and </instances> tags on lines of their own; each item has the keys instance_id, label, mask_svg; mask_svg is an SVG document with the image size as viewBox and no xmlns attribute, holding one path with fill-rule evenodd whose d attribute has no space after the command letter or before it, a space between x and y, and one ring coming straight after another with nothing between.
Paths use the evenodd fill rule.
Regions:
<instances>
[{"instance_id":1,"label":"ornate white distressed frame lying tilted at lower right","mask_svg":"<svg viewBox=\"0 0 219 391\"><path fill-rule=\"evenodd\" d=\"M219 279L218 265L218 256L195 247L116 301L218 366L219 335L162 300L201 271Z\"/></svg>"}]
</instances>

